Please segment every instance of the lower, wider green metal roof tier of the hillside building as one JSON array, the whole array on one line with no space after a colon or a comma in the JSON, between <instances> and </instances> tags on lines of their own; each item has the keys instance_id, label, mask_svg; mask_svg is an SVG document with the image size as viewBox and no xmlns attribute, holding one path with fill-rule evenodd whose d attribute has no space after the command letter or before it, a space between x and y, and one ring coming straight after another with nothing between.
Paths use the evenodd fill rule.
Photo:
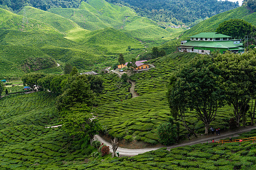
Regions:
<instances>
[{"instance_id":1,"label":"lower, wider green metal roof tier of the hillside building","mask_svg":"<svg viewBox=\"0 0 256 170\"><path fill-rule=\"evenodd\" d=\"M199 46L209 48L238 48L240 44L233 44L233 41L188 41L181 46Z\"/></svg>"}]
</instances>

